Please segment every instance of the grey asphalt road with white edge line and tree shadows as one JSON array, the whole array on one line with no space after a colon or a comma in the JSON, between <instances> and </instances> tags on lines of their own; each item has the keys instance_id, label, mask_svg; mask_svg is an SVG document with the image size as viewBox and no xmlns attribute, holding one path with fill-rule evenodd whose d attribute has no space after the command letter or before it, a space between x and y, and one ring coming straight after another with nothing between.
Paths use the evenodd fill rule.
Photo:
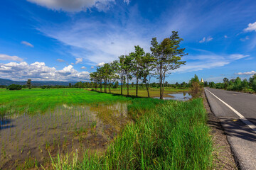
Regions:
<instances>
[{"instance_id":1,"label":"grey asphalt road with white edge line and tree shadows","mask_svg":"<svg viewBox=\"0 0 256 170\"><path fill-rule=\"evenodd\" d=\"M240 169L255 170L256 95L210 88L205 88L205 92L211 111L220 118Z\"/></svg>"}]
</instances>

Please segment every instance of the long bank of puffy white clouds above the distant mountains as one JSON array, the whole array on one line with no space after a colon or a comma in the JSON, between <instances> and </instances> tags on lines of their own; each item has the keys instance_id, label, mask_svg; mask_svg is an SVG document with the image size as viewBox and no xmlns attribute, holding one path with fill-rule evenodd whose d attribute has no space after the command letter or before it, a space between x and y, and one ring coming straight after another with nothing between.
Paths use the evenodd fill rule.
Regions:
<instances>
[{"instance_id":1,"label":"long bank of puffy white clouds above the distant mountains","mask_svg":"<svg viewBox=\"0 0 256 170\"><path fill-rule=\"evenodd\" d=\"M44 62L9 62L0 63L0 77L4 79L38 81L85 81L90 79L89 72L78 72L72 65L57 70L48 67Z\"/></svg>"}]
</instances>

